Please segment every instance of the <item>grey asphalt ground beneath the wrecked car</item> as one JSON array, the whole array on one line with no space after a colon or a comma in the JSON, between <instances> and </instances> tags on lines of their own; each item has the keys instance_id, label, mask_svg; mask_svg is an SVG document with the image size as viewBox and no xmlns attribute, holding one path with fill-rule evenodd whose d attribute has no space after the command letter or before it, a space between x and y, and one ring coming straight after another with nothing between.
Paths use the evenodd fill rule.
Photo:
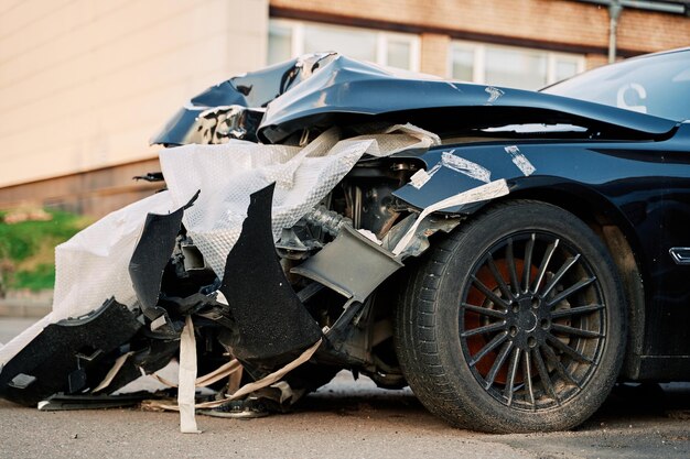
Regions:
<instances>
[{"instance_id":1,"label":"grey asphalt ground beneath the wrecked car","mask_svg":"<svg viewBox=\"0 0 690 459\"><path fill-rule=\"evenodd\" d=\"M29 321L0 319L0 342ZM9 330L9 331L8 331ZM689 458L690 384L618 386L573 431L486 435L430 415L409 390L342 372L290 414L197 416L139 408L39 412L0 401L0 458Z\"/></svg>"}]
</instances>

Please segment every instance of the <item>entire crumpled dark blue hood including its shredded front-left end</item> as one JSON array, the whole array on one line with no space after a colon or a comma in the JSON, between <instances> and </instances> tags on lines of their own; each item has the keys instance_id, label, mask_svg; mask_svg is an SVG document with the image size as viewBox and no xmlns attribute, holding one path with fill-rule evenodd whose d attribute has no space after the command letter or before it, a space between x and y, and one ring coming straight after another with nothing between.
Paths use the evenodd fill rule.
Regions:
<instances>
[{"instance_id":1,"label":"entire crumpled dark blue hood including its shredded front-left end","mask_svg":"<svg viewBox=\"0 0 690 459\"><path fill-rule=\"evenodd\" d=\"M405 97L400 97L405 95ZM601 135L654 139L676 121L548 94L399 74L313 54L230 78L193 98L152 143L284 142L304 129L381 120L443 134L515 123L573 124ZM604 134L605 135L605 134ZM209 138L211 136L211 138Z\"/></svg>"}]
</instances>

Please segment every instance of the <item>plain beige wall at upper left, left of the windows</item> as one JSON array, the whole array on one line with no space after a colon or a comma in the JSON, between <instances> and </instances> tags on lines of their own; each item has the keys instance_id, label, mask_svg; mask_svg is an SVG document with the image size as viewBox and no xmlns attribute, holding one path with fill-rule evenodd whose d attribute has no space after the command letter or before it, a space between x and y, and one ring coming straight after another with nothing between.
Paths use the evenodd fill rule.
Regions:
<instances>
[{"instance_id":1,"label":"plain beige wall at upper left, left of the windows","mask_svg":"<svg viewBox=\"0 0 690 459\"><path fill-rule=\"evenodd\" d=\"M268 15L268 0L0 0L0 187L154 157L190 97L263 66Z\"/></svg>"}]
</instances>

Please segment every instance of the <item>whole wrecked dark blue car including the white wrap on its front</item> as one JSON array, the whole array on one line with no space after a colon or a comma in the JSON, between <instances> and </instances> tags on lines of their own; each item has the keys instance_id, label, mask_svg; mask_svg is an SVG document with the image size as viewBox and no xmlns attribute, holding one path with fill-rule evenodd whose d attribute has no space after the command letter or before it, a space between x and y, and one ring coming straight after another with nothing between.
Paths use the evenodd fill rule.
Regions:
<instances>
[{"instance_id":1,"label":"whole wrecked dark blue car including the white wrap on its front","mask_svg":"<svg viewBox=\"0 0 690 459\"><path fill-rule=\"evenodd\" d=\"M106 406L177 361L195 431L348 369L516 433L688 381L688 101L690 50L540 92L334 53L234 77L153 138L163 190L56 249L0 395Z\"/></svg>"}]
</instances>

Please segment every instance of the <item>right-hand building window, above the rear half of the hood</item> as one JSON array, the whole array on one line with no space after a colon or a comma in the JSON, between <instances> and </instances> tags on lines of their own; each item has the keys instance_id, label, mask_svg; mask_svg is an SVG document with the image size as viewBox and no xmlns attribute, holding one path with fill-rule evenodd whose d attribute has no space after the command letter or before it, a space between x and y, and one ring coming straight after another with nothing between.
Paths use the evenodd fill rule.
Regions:
<instances>
[{"instance_id":1,"label":"right-hand building window, above the rear half of the hood","mask_svg":"<svg viewBox=\"0 0 690 459\"><path fill-rule=\"evenodd\" d=\"M515 46L453 42L450 77L454 79L539 89L584 70L584 56Z\"/></svg>"}]
</instances>

